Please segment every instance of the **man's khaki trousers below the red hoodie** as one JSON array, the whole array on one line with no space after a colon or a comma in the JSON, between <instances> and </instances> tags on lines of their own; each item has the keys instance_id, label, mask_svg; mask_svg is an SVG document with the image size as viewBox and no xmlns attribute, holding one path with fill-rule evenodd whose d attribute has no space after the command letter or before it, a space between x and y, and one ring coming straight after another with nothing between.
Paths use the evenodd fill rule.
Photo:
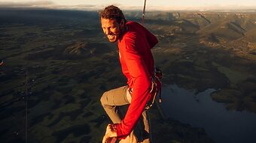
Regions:
<instances>
[{"instance_id":1,"label":"man's khaki trousers below the red hoodie","mask_svg":"<svg viewBox=\"0 0 256 143\"><path fill-rule=\"evenodd\" d=\"M128 86L122 86L120 88L115 88L110 91L106 91L102 98L100 99L103 108L105 109L105 112L108 114L108 117L111 119L111 121L114 124L118 124L121 122L120 118L120 111L118 111L117 106L123 106L126 104L130 104L132 100L132 97L128 91ZM149 135L149 124L147 119L146 112L142 112L143 117L143 123L144 126L142 126L145 130L143 132L143 143L148 143L148 135ZM142 121L141 121L142 122Z\"/></svg>"}]
</instances>

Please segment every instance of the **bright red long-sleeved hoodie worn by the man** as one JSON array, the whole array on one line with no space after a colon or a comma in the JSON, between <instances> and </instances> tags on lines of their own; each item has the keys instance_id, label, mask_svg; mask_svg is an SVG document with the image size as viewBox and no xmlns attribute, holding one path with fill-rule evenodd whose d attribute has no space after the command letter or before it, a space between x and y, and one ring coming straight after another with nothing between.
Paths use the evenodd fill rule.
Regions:
<instances>
[{"instance_id":1,"label":"bright red long-sleeved hoodie worn by the man","mask_svg":"<svg viewBox=\"0 0 256 143\"><path fill-rule=\"evenodd\" d=\"M126 22L126 28L118 40L119 58L133 95L123 121L117 124L118 139L130 134L151 98L151 77L154 74L151 48L158 43L157 37L137 22Z\"/></svg>"}]
</instances>

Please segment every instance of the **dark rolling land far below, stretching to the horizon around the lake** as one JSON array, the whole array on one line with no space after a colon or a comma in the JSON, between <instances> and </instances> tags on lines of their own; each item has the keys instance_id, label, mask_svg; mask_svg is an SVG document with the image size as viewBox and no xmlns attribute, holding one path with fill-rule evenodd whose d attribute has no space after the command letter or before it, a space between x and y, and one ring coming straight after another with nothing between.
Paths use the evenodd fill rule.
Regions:
<instances>
[{"instance_id":1,"label":"dark rolling land far below, stretching to the horizon around the lake","mask_svg":"<svg viewBox=\"0 0 256 143\"><path fill-rule=\"evenodd\" d=\"M256 113L256 13L147 14L164 85L214 88L227 109ZM28 142L101 142L110 120L99 99L126 79L95 11L0 9L0 43L0 142L25 142L26 103ZM213 142L156 106L150 115L155 142Z\"/></svg>"}]
</instances>

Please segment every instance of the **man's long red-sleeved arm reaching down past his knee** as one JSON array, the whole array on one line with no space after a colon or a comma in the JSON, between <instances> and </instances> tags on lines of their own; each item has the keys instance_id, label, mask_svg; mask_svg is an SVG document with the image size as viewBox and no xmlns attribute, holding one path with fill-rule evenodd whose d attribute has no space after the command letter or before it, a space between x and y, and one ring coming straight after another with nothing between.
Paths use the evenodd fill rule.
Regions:
<instances>
[{"instance_id":1,"label":"man's long red-sleeved arm reaching down past his knee","mask_svg":"<svg viewBox=\"0 0 256 143\"><path fill-rule=\"evenodd\" d=\"M117 124L117 138L124 138L130 134L139 121L145 105L150 97L151 77L136 49L134 40L126 40L126 49L123 49L123 58L133 79L133 96L126 115L120 124Z\"/></svg>"}]
</instances>

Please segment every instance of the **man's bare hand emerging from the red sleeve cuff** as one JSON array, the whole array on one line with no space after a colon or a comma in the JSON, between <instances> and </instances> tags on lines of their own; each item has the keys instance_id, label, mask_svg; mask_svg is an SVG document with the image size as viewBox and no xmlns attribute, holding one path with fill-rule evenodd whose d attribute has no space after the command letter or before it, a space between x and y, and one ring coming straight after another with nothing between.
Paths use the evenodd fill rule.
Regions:
<instances>
[{"instance_id":1,"label":"man's bare hand emerging from the red sleeve cuff","mask_svg":"<svg viewBox=\"0 0 256 143\"><path fill-rule=\"evenodd\" d=\"M108 124L102 143L114 143L117 139L117 125Z\"/></svg>"}]
</instances>

